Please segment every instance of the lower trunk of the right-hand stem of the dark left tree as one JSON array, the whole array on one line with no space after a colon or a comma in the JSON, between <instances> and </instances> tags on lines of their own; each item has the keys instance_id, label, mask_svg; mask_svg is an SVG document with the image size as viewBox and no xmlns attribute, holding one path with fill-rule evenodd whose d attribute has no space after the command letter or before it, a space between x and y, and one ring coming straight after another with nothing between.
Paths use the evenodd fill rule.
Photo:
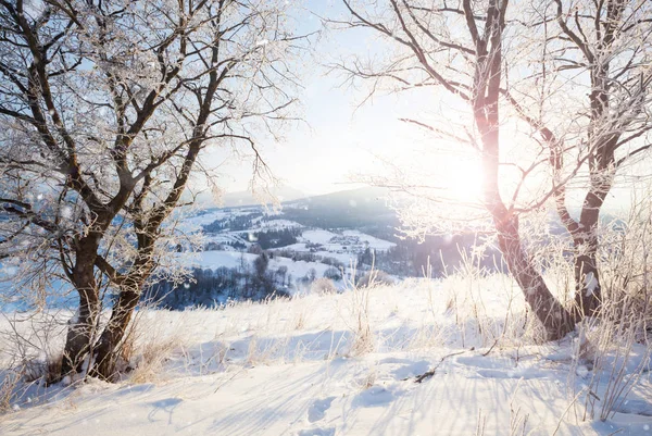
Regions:
<instances>
[{"instance_id":1,"label":"lower trunk of the right-hand stem of the dark left tree","mask_svg":"<svg viewBox=\"0 0 652 436\"><path fill-rule=\"evenodd\" d=\"M111 320L102 332L96 348L95 364L90 375L112 382L115 376L117 349L125 336L131 314L138 304L140 295L134 290L121 290L120 297L113 307Z\"/></svg>"}]
</instances>

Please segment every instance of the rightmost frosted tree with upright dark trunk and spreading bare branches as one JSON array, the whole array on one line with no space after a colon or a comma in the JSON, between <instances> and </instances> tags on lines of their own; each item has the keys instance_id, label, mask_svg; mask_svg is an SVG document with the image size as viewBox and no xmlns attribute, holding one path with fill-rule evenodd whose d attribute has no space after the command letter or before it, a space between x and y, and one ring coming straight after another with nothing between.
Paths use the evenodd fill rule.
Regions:
<instances>
[{"instance_id":1,"label":"rightmost frosted tree with upright dark trunk and spreading bare branches","mask_svg":"<svg viewBox=\"0 0 652 436\"><path fill-rule=\"evenodd\" d=\"M537 79L548 90L538 102L525 99L525 92L504 94L549 149L549 195L573 241L578 316L592 315L602 298L601 209L616 173L650 148L652 4L554 0L536 10L539 22L532 26L546 27ZM531 107L541 110L526 109ZM568 187L584 190L578 219L567 205Z\"/></svg>"}]
</instances>

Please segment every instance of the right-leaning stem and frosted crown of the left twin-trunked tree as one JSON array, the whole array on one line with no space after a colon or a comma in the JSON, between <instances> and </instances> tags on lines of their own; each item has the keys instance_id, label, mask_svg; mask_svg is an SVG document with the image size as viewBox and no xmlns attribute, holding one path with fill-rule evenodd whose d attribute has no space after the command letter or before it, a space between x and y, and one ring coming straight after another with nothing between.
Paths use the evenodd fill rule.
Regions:
<instances>
[{"instance_id":1,"label":"right-leaning stem and frosted crown of the left twin-trunked tree","mask_svg":"<svg viewBox=\"0 0 652 436\"><path fill-rule=\"evenodd\" d=\"M265 171L254 136L242 121L267 123L269 133L274 135L278 124L287 120L286 109L294 101L287 94L287 85L296 82L297 77L284 51L291 50L292 45L300 48L296 43L303 37L279 35L281 28L277 17L281 10L275 5L258 9L240 3L237 9L234 14L221 4L210 21L212 33L192 40L193 47L203 48L197 50L197 55L204 74L198 77L192 72L189 77L181 77L186 92L171 105L171 116L189 134L177 146L183 146L184 153L174 171L172 187L163 189L162 194L161 189L152 188L151 179L146 179L129 204L128 213L133 215L137 236L136 259L125 273L116 273L120 269L101 260L100 270L121 289L97 349L97 372L103 377L113 374L115 348L153 271L156 256L160 256L154 248L160 241L163 221L177 207L201 149L216 140L223 144L242 141L256 153L254 171ZM233 15L226 18L226 12ZM259 25L252 25L252 21L259 21ZM246 26L248 28L243 29ZM153 197L149 208L145 205L148 197Z\"/></svg>"}]
</instances>

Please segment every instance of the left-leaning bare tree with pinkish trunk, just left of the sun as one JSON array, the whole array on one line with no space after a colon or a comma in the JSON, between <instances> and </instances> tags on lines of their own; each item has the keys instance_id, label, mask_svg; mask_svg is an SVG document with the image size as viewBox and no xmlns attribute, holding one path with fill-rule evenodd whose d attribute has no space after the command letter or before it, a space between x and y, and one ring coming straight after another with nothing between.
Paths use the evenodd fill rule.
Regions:
<instances>
[{"instance_id":1,"label":"left-leaning bare tree with pinkish trunk, just left of the sun","mask_svg":"<svg viewBox=\"0 0 652 436\"><path fill-rule=\"evenodd\" d=\"M467 130L443 134L468 142L478 152L482 207L491 216L510 272L548 337L564 336L573 329L573 316L552 295L522 244L516 202L522 184L506 199L499 184L509 1L342 1L350 20L331 23L366 28L397 47L391 59L380 64L356 58L338 65L352 79L390 80L399 90L437 87L468 109L473 121ZM406 121L442 133L427 123ZM541 164L535 160L523 177Z\"/></svg>"}]
</instances>

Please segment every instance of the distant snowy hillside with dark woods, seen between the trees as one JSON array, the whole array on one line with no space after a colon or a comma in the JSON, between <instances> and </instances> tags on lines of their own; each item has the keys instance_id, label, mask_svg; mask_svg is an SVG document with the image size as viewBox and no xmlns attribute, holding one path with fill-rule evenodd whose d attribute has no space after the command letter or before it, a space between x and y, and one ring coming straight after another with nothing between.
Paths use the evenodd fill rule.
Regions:
<instances>
[{"instance_id":1,"label":"distant snowy hillside with dark woods, seen between the trees","mask_svg":"<svg viewBox=\"0 0 652 436\"><path fill-rule=\"evenodd\" d=\"M388 194L362 188L289 201L277 209L200 210L186 220L204 238L203 250L191 265L202 270L195 272L197 285L177 292L168 284L154 294L170 296L164 307L181 309L263 299L271 292L305 292L317 278L334 281L333 286L342 289L347 277L362 278L372 267L394 278L423 276L425 271L442 276L447 269L453 271L476 236L428 237L424 244L401 239ZM253 263L263 252L272 261L261 260L265 271L252 275ZM486 254L482 266L494 271L500 253L489 249Z\"/></svg>"}]
</instances>

